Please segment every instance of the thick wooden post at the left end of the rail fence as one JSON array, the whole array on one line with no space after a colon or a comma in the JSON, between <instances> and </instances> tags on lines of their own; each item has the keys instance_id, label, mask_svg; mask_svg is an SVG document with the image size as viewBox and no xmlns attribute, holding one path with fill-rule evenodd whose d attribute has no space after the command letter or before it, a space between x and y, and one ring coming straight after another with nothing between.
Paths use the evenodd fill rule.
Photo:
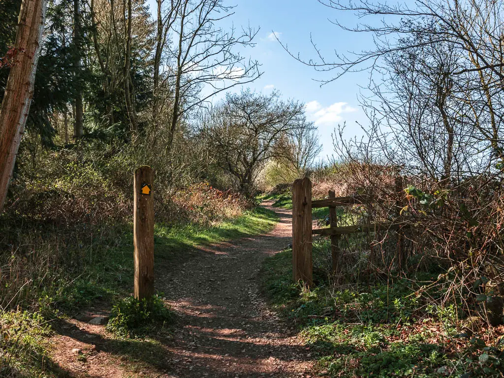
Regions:
<instances>
[{"instance_id":1,"label":"thick wooden post at the left end of the rail fence","mask_svg":"<svg viewBox=\"0 0 504 378\"><path fill-rule=\"evenodd\" d=\"M295 282L312 285L311 181L305 177L292 186L292 274Z\"/></svg>"}]
</instances>

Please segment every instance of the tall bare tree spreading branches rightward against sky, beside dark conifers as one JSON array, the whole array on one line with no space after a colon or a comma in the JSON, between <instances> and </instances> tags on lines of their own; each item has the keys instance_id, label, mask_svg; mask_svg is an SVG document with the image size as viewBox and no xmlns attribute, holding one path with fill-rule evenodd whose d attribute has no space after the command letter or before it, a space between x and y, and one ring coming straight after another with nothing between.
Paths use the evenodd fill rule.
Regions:
<instances>
[{"instance_id":1,"label":"tall bare tree spreading branches rightward against sky, beside dark conifers","mask_svg":"<svg viewBox=\"0 0 504 378\"><path fill-rule=\"evenodd\" d=\"M234 28L225 31L218 25L233 15L232 9L222 0L183 0L177 9L172 24L174 41L166 51L173 67L164 75L173 88L169 93L172 111L167 149L180 117L205 106L217 93L261 76L259 63L236 51L238 47L253 46L258 31L248 27L236 33Z\"/></svg>"}]
</instances>

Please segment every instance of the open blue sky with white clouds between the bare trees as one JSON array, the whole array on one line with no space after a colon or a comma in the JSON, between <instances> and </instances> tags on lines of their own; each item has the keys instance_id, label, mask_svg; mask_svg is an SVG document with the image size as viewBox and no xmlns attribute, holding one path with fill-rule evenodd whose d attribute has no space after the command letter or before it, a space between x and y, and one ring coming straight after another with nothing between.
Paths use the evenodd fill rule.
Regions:
<instances>
[{"instance_id":1,"label":"open blue sky with white clouds between the bare trees","mask_svg":"<svg viewBox=\"0 0 504 378\"><path fill-rule=\"evenodd\" d=\"M275 33L293 53L297 55L299 52L306 59L316 57L311 35L323 56L330 61L335 57L335 51L360 52L372 47L371 36L344 31L330 21L338 19L340 23L355 26L358 20L353 14L332 10L317 0L224 0L224 4L236 5L234 14L222 25L224 29L233 25L238 29L248 25L261 28L257 45L241 51L243 55L259 60L264 72L260 79L248 86L265 93L279 90L284 98L304 102L308 119L319 129L323 144L321 159L333 153L331 134L338 123L346 121L346 138L362 135L356 121L366 124L366 117L359 107L358 95L361 92L359 86L367 84L368 73L347 74L321 87L316 80L330 79L333 73L316 72L296 61L273 35ZM233 90L239 91L239 88Z\"/></svg>"}]
</instances>

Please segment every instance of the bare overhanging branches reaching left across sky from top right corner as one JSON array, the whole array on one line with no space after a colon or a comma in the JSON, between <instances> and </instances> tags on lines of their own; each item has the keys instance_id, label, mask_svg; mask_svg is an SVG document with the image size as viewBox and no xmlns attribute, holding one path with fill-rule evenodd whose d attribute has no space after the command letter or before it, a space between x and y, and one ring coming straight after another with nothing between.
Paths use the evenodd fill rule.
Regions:
<instances>
[{"instance_id":1,"label":"bare overhanging branches reaching left across sky from top right corner","mask_svg":"<svg viewBox=\"0 0 504 378\"><path fill-rule=\"evenodd\" d=\"M335 71L336 74L323 81L329 83L349 71L362 71L379 65L380 59L390 53L415 49L429 43L449 43L473 56L471 67L459 67L452 74L466 72L492 71L499 79L504 78L504 62L500 46L502 35L501 7L499 2L490 0L415 0L410 5L403 3L390 4L360 0L347 2L343 0L318 0L321 4L338 11L352 12L359 19L374 16L390 18L380 19L376 25L359 23L355 27L333 23L344 30L368 32L375 37L376 48L353 54L336 53L335 60L327 60L312 41L317 58L304 60L299 54L294 56L304 64L319 71ZM397 21L399 20L399 21ZM395 22L395 23L394 23ZM433 28L433 25L437 27ZM417 35L429 35L428 40L420 41ZM393 38L389 38L393 36ZM401 36L401 37L399 37ZM286 48L286 46L284 46ZM478 63L478 64L476 64Z\"/></svg>"}]
</instances>

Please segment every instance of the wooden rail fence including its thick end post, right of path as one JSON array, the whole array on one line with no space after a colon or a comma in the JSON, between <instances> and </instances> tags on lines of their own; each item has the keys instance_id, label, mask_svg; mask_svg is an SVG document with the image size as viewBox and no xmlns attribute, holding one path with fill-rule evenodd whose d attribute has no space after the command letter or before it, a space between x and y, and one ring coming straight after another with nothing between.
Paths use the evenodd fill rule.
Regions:
<instances>
[{"instance_id":1,"label":"wooden rail fence including its thick end post, right of path","mask_svg":"<svg viewBox=\"0 0 504 378\"><path fill-rule=\"evenodd\" d=\"M398 230L397 259L399 269L404 264L403 232L409 225L400 218L403 207L404 192L402 177L395 180L395 219L392 222L378 222L338 227L336 207L352 205L369 205L379 202L379 199L369 195L335 197L334 191L329 191L329 198L311 200L311 181L305 177L297 179L292 185L292 275L295 282L301 280L305 285L312 285L312 235L330 236L333 274L340 269L341 251L339 239L341 235L356 232ZM311 209L329 208L329 228L312 229Z\"/></svg>"}]
</instances>

